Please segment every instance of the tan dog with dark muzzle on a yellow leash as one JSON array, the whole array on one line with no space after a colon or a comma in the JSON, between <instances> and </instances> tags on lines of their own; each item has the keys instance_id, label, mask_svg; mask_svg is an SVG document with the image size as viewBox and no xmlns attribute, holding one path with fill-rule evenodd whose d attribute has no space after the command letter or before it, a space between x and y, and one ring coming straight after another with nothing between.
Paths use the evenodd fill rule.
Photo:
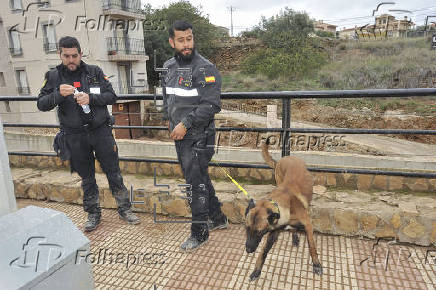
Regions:
<instances>
[{"instance_id":1,"label":"tan dog with dark muzzle on a yellow leash","mask_svg":"<svg viewBox=\"0 0 436 290\"><path fill-rule=\"evenodd\" d=\"M256 261L254 271L250 275L253 281L260 276L266 256L277 241L280 230L290 225L297 229L304 227L309 244L309 252L313 262L313 272L321 275L322 266L318 260L313 228L309 216L309 204L312 200L313 179L303 160L286 156L278 162L268 152L269 138L262 145L262 156L266 163L274 169L277 187L256 204L250 200L245 211L247 253L253 253L259 246L262 237L268 234L267 242ZM292 233L292 243L298 246L298 235Z\"/></svg>"}]
</instances>

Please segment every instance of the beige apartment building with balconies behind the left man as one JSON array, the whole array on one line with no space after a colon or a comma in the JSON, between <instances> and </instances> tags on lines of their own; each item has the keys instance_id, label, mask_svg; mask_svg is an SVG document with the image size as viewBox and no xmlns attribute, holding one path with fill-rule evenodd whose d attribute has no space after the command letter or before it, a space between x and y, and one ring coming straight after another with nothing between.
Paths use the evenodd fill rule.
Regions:
<instances>
[{"instance_id":1,"label":"beige apartment building with balconies behind the left man","mask_svg":"<svg viewBox=\"0 0 436 290\"><path fill-rule=\"evenodd\" d=\"M0 7L0 95L36 96L60 63L58 41L76 37L118 94L148 90L140 0L7 0ZM0 102L3 122L55 123L36 102ZM123 106L121 106L122 108ZM125 107L125 106L124 106Z\"/></svg>"}]
</instances>

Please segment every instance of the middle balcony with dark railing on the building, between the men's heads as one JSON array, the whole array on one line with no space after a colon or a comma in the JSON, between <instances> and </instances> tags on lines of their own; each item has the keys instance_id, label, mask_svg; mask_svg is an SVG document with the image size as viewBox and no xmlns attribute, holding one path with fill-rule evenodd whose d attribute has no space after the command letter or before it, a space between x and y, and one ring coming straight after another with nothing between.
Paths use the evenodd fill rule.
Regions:
<instances>
[{"instance_id":1,"label":"middle balcony with dark railing on the building, between the men's heads","mask_svg":"<svg viewBox=\"0 0 436 290\"><path fill-rule=\"evenodd\" d=\"M145 55L144 39L130 37L106 38L108 58L111 61L148 60Z\"/></svg>"}]
</instances>

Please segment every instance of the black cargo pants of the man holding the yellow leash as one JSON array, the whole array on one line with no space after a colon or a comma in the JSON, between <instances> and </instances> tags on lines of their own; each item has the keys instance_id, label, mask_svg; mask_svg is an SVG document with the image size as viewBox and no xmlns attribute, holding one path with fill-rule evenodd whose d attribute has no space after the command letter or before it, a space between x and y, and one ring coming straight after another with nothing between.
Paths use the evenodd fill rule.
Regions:
<instances>
[{"instance_id":1,"label":"black cargo pants of the man holding the yellow leash","mask_svg":"<svg viewBox=\"0 0 436 290\"><path fill-rule=\"evenodd\" d=\"M219 220L223 217L221 203L215 195L215 189L208 173L208 164L212 159L215 134L196 139L175 141L177 158L182 167L186 184L191 185L190 202L192 221ZM192 223L191 235L204 241L209 237L207 223Z\"/></svg>"}]
</instances>

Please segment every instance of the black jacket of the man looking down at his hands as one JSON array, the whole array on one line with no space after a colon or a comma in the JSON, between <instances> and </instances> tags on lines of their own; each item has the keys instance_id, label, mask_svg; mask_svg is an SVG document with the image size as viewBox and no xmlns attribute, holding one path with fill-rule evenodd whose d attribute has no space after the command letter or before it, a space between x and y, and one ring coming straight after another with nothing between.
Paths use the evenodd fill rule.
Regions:
<instances>
[{"instance_id":1,"label":"black jacket of the man looking down at his hands","mask_svg":"<svg viewBox=\"0 0 436 290\"><path fill-rule=\"evenodd\" d=\"M59 92L61 84L73 85L74 82L80 82L80 92L89 94L89 114L83 112L73 95L63 97ZM38 95L37 106L41 111L50 111L58 106L61 128L66 132L80 132L86 124L92 130L107 123L110 118L107 105L114 104L116 100L117 96L103 71L98 66L82 61L74 72L69 71L63 64L48 71Z\"/></svg>"}]
</instances>

